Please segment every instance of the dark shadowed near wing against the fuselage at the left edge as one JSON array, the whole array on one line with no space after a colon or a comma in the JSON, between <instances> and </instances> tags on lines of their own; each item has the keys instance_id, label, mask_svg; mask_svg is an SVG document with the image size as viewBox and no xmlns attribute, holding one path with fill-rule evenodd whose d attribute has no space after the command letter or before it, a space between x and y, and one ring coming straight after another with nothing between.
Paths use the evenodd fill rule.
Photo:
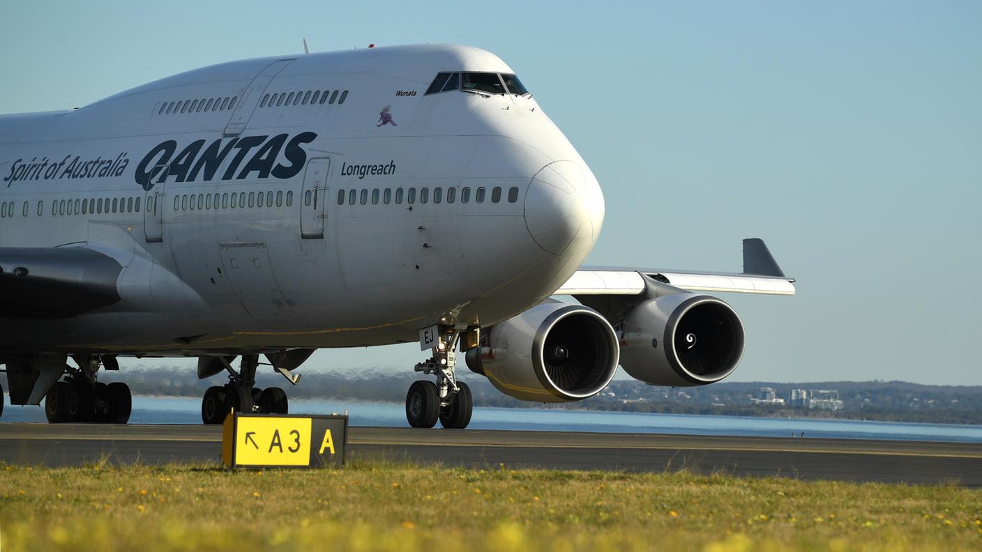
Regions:
<instances>
[{"instance_id":1,"label":"dark shadowed near wing against the fuselage at the left edge","mask_svg":"<svg viewBox=\"0 0 982 552\"><path fill-rule=\"evenodd\" d=\"M0 248L0 317L67 318L115 304L121 270L89 248Z\"/></svg>"}]
</instances>

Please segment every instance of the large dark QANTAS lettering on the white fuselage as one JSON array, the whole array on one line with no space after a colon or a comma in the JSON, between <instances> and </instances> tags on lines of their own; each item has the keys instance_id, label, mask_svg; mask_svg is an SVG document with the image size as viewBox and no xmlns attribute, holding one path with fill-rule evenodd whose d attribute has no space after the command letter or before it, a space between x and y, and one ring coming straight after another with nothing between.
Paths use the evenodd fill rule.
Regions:
<instances>
[{"instance_id":1,"label":"large dark QANTAS lettering on the white fuselage","mask_svg":"<svg viewBox=\"0 0 982 552\"><path fill-rule=\"evenodd\" d=\"M270 175L286 180L297 176L306 163L306 151L300 146L316 138L315 133L300 133L294 138L290 138L290 135L218 138L207 146L207 140L199 139L180 151L178 142L168 139L158 143L143 156L136 165L134 178L143 190L150 190L154 184L163 183L172 176L176 177L177 182L209 182L215 178L261 179L269 178ZM286 164L277 163L281 150L286 157ZM248 157L250 152L252 155ZM219 167L229 156L232 156L232 161L216 177ZM246 162L243 163L244 161Z\"/></svg>"}]
</instances>

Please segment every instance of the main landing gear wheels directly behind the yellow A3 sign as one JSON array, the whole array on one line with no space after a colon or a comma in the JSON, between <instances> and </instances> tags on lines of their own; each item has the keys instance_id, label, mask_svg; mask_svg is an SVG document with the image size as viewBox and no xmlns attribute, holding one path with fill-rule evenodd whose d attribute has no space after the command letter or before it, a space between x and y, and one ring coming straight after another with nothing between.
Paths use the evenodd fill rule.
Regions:
<instances>
[{"instance_id":1,"label":"main landing gear wheels directly behind the yellow A3 sign","mask_svg":"<svg viewBox=\"0 0 982 552\"><path fill-rule=\"evenodd\" d=\"M258 355L243 355L237 372L228 361L225 361L229 382L222 386L209 387L204 392L204 399L201 400L201 420L204 423L221 423L230 412L246 414L289 412L285 391L279 387L266 389L254 387L255 369L258 364Z\"/></svg>"}]
</instances>

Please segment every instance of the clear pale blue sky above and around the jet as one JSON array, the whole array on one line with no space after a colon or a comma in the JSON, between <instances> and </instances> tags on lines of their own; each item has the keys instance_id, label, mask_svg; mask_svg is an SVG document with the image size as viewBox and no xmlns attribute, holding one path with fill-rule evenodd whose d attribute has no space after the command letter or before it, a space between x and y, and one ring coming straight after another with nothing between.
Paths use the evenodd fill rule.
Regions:
<instances>
[{"instance_id":1,"label":"clear pale blue sky above and around the jet","mask_svg":"<svg viewBox=\"0 0 982 552\"><path fill-rule=\"evenodd\" d=\"M588 263L738 270L740 239L761 237L798 279L793 298L724 297L746 325L733 380L982 384L982 3L557 6L7 0L0 112L297 54L304 37L479 46L600 180ZM423 356L322 352L301 371Z\"/></svg>"}]
</instances>

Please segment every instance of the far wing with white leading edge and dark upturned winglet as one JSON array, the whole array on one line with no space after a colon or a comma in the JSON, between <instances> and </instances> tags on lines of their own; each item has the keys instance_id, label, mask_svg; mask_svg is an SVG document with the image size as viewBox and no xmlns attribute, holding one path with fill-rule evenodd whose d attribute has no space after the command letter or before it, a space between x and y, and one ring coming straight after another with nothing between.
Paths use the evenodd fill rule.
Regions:
<instances>
[{"instance_id":1,"label":"far wing with white leading edge and dark upturned winglet","mask_svg":"<svg viewBox=\"0 0 982 552\"><path fill-rule=\"evenodd\" d=\"M785 276L759 238L743 240L743 272L583 267L554 295L640 295L646 289L642 274L686 291L794 295L794 279Z\"/></svg>"}]
</instances>

